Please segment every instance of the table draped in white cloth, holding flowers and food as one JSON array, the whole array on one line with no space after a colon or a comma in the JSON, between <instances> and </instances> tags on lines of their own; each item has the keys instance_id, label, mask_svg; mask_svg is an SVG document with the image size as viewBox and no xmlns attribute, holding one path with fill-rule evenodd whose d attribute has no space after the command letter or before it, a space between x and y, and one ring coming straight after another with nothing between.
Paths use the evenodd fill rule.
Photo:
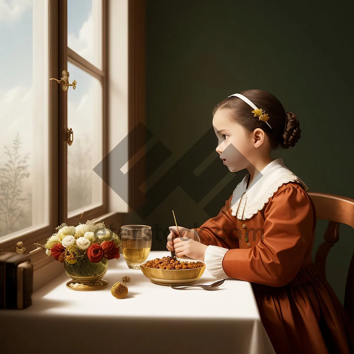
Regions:
<instances>
[{"instance_id":1,"label":"table draped in white cloth, holding flowers and food","mask_svg":"<svg viewBox=\"0 0 354 354\"><path fill-rule=\"evenodd\" d=\"M129 293L115 299L111 286L125 275ZM1 353L274 353L249 282L175 290L129 269L122 256L109 261L104 279L105 289L73 291L63 273L33 293L29 308L0 310ZM216 280L206 269L195 284Z\"/></svg>"}]
</instances>

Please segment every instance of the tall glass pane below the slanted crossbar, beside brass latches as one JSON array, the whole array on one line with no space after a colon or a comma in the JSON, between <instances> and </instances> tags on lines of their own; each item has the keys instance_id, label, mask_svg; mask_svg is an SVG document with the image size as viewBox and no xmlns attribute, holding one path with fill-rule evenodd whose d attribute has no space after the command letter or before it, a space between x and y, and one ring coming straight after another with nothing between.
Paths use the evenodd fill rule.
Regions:
<instances>
[{"instance_id":1,"label":"tall glass pane below the slanted crossbar, beside brass latches","mask_svg":"<svg viewBox=\"0 0 354 354\"><path fill-rule=\"evenodd\" d=\"M102 205L102 179L93 168L102 160L102 85L99 80L68 63L68 128L74 141L68 146L68 217Z\"/></svg>"}]
</instances>

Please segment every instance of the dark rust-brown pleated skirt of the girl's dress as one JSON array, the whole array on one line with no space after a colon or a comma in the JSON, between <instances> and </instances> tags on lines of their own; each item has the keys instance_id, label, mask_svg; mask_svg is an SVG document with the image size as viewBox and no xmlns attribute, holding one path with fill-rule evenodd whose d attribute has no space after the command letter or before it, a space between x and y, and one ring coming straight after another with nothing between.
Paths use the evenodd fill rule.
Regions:
<instances>
[{"instance_id":1,"label":"dark rust-brown pleated skirt of the girl's dress","mask_svg":"<svg viewBox=\"0 0 354 354\"><path fill-rule=\"evenodd\" d=\"M353 324L313 263L286 286L252 283L252 288L277 354L354 353Z\"/></svg>"}]
</instances>

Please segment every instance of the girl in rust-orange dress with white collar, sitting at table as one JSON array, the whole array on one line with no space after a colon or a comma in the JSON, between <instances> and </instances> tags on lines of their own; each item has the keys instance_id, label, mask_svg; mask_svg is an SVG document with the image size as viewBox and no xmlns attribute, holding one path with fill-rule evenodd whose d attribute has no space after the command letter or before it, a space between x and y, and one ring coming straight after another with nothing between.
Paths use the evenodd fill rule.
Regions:
<instances>
[{"instance_id":1,"label":"girl in rust-orange dress with white collar, sitting at table","mask_svg":"<svg viewBox=\"0 0 354 354\"><path fill-rule=\"evenodd\" d=\"M247 90L213 109L216 151L231 172L247 169L219 214L198 229L170 227L167 249L205 262L217 278L249 281L276 353L354 353L354 330L311 251L315 207L307 186L270 158L300 138L295 114L273 95Z\"/></svg>"}]
</instances>

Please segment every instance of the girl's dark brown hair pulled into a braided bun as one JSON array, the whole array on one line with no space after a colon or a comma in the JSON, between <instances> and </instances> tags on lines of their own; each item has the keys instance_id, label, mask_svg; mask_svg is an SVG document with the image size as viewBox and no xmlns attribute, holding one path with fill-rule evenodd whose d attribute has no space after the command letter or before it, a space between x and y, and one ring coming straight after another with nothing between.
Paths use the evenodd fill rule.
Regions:
<instances>
[{"instance_id":1,"label":"girl's dark brown hair pulled into a braided bun","mask_svg":"<svg viewBox=\"0 0 354 354\"><path fill-rule=\"evenodd\" d=\"M276 97L263 90L247 90L240 93L253 102L257 108L264 109L269 116L267 123L272 129L267 123L251 113L253 108L249 104L236 96L225 98L219 102L213 109L213 116L218 109L231 109L233 118L248 131L251 132L256 128L262 129L267 134L272 149L276 149L279 144L282 148L287 149L297 143L301 136L300 123L294 113L285 113L284 107Z\"/></svg>"}]
</instances>

